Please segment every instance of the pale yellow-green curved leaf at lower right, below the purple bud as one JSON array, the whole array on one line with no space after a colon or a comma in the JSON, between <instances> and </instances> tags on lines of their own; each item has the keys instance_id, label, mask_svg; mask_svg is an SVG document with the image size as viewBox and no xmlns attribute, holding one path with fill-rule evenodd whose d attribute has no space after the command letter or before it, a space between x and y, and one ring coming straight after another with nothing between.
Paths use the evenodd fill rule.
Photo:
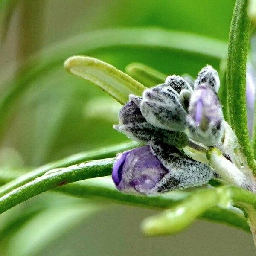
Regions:
<instances>
[{"instance_id":1,"label":"pale yellow-green curved leaf at lower right, below the purple bud","mask_svg":"<svg viewBox=\"0 0 256 256\"><path fill-rule=\"evenodd\" d=\"M205 214L212 212L214 207L218 206L217 209L220 209L219 207L228 207L230 204L243 210L246 209L248 224L255 239L256 195L234 186L197 190L177 206L166 210L159 216L146 219L143 224L143 231L147 235L175 233L187 227L195 218L199 216L205 217Z\"/></svg>"}]
</instances>

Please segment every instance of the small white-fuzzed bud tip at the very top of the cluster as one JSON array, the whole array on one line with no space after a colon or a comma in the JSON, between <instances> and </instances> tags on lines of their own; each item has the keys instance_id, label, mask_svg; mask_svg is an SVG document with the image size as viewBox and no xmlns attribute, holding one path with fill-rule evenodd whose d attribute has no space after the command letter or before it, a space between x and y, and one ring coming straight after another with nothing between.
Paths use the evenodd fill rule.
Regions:
<instances>
[{"instance_id":1,"label":"small white-fuzzed bud tip at the very top of the cluster","mask_svg":"<svg viewBox=\"0 0 256 256\"><path fill-rule=\"evenodd\" d=\"M207 84L218 93L220 88L220 79L218 76L218 72L212 68L212 66L205 66L199 73L197 78L195 79L195 88L201 84Z\"/></svg>"}]
</instances>

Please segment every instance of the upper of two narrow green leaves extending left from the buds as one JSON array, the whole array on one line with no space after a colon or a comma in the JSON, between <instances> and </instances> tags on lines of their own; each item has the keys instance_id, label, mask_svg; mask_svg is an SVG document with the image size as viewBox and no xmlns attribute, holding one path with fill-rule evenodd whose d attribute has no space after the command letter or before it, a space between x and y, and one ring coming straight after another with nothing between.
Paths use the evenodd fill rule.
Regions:
<instances>
[{"instance_id":1,"label":"upper of two narrow green leaves extending left from the buds","mask_svg":"<svg viewBox=\"0 0 256 256\"><path fill-rule=\"evenodd\" d=\"M81 152L79 154L74 154L72 156L66 157L56 162L48 163L0 187L0 196L3 196L4 194L11 191L12 189L16 189L22 186L23 184L31 180L34 180L37 177L40 177L41 175L44 175L45 172L51 169L59 168L59 167L67 167L67 166L71 166L71 165L85 162L88 160L115 157L117 153L129 150L131 148L135 148L138 145L139 143L136 143L136 142L128 142L128 143L126 142L126 143L113 145L105 148L99 148L96 150L94 149L92 151Z\"/></svg>"}]
</instances>

